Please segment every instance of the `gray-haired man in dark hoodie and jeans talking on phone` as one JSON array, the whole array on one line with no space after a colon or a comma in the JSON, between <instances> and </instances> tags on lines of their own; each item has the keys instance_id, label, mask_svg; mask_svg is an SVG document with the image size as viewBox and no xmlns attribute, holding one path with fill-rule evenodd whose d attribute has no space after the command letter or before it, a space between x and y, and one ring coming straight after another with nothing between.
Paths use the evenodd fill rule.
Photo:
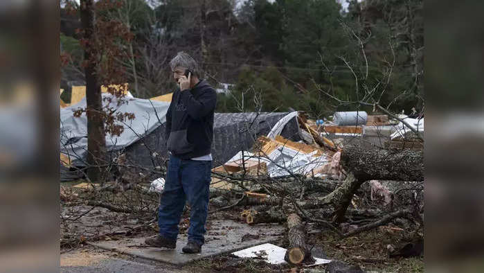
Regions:
<instances>
[{"instance_id":1,"label":"gray-haired man in dark hoodie and jeans talking on phone","mask_svg":"<svg viewBox=\"0 0 484 273\"><path fill-rule=\"evenodd\" d=\"M190 227L188 244L182 251L199 253L204 245L208 214L210 148L217 95L206 80L199 79L197 62L187 53L179 52L170 61L170 67L179 87L166 113L165 138L170 161L158 212L159 235L147 238L145 243L174 249L181 213L188 200Z\"/></svg>"}]
</instances>

